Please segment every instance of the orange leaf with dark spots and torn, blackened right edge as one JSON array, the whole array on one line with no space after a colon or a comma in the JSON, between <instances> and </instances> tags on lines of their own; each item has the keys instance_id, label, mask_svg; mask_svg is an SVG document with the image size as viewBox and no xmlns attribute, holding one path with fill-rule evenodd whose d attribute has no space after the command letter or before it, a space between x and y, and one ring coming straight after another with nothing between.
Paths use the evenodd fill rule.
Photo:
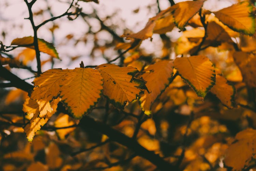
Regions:
<instances>
[{"instance_id":1,"label":"orange leaf with dark spots and torn, blackened right edge","mask_svg":"<svg viewBox=\"0 0 256 171\"><path fill-rule=\"evenodd\" d=\"M126 102L136 99L141 92L137 88L140 85L131 82L133 76L138 72L136 68L102 64L96 69L103 77L103 94L108 96L114 105L122 107Z\"/></svg>"}]
</instances>

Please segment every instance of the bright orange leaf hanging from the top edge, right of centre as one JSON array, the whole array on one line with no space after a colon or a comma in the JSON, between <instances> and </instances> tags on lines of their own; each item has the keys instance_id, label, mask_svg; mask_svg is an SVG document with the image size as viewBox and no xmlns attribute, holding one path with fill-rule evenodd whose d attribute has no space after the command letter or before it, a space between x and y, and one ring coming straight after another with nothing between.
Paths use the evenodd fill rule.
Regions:
<instances>
[{"instance_id":1,"label":"bright orange leaf hanging from the top edge, right of centre","mask_svg":"<svg viewBox=\"0 0 256 171\"><path fill-rule=\"evenodd\" d=\"M173 17L176 26L184 30L188 20L190 20L203 6L204 0L201 1L184 1L173 5Z\"/></svg>"}]
</instances>

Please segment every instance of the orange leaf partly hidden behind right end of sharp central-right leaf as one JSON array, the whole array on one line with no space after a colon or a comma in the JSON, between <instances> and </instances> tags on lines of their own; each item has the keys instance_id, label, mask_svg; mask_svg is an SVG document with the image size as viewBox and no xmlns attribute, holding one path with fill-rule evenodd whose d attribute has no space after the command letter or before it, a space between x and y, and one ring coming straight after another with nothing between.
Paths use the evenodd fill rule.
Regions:
<instances>
[{"instance_id":1,"label":"orange leaf partly hidden behind right end of sharp central-right leaf","mask_svg":"<svg viewBox=\"0 0 256 171\"><path fill-rule=\"evenodd\" d=\"M210 91L215 94L225 106L228 108L234 107L234 95L236 90L227 83L227 80L223 76L216 75L216 83Z\"/></svg>"}]
</instances>

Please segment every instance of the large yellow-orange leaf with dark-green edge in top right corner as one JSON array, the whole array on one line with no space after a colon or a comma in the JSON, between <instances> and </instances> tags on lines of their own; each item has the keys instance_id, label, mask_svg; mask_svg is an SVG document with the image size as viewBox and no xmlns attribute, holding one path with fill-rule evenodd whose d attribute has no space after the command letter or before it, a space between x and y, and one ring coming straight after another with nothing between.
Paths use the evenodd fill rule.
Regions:
<instances>
[{"instance_id":1,"label":"large yellow-orange leaf with dark-green edge in top right corner","mask_svg":"<svg viewBox=\"0 0 256 171\"><path fill-rule=\"evenodd\" d=\"M248 35L255 33L255 18L250 2L243 1L213 13L232 30Z\"/></svg>"}]
</instances>

